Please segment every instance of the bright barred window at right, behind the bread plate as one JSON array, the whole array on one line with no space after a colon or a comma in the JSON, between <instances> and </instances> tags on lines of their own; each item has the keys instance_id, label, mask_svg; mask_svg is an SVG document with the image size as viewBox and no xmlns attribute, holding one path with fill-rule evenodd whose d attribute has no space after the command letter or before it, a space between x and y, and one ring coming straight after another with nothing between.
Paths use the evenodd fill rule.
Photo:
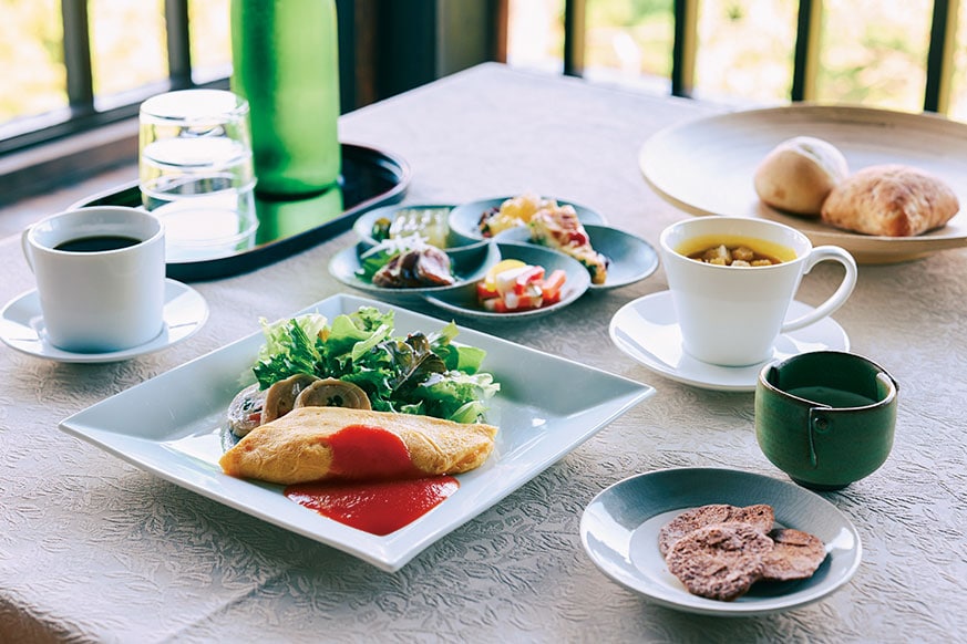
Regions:
<instances>
[{"instance_id":1,"label":"bright barred window at right, behind the bread plate","mask_svg":"<svg viewBox=\"0 0 967 644\"><path fill-rule=\"evenodd\" d=\"M512 64L666 91L670 85L676 94L719 102L807 100L967 120L964 2L508 2Z\"/></svg>"}]
</instances>

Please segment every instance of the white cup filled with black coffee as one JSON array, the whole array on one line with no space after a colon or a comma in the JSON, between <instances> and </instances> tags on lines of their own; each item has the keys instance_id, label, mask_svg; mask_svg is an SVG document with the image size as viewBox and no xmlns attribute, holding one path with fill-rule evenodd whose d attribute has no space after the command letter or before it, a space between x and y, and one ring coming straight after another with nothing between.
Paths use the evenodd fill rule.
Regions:
<instances>
[{"instance_id":1,"label":"white cup filled with black coffee","mask_svg":"<svg viewBox=\"0 0 967 644\"><path fill-rule=\"evenodd\" d=\"M107 353L162 332L165 239L153 215L122 206L66 210L30 226L21 241L52 345Z\"/></svg>"}]
</instances>

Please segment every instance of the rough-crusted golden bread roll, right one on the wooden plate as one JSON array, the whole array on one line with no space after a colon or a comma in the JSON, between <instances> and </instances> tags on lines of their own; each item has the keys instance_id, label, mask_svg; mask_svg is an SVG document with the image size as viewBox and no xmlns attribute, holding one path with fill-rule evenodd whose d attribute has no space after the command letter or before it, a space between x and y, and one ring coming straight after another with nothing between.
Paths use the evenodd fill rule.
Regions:
<instances>
[{"instance_id":1,"label":"rough-crusted golden bread roll, right one on the wooden plate","mask_svg":"<svg viewBox=\"0 0 967 644\"><path fill-rule=\"evenodd\" d=\"M909 166L877 165L841 183L823 205L823 221L865 235L909 237L950 220L960 209L954 190Z\"/></svg>"}]
</instances>

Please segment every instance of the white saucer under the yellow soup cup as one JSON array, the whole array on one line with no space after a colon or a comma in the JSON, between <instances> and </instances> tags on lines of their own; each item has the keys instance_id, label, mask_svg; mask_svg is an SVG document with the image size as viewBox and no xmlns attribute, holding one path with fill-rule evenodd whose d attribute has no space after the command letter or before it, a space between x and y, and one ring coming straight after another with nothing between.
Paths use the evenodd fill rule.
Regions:
<instances>
[{"instance_id":1,"label":"white saucer under the yellow soup cup","mask_svg":"<svg viewBox=\"0 0 967 644\"><path fill-rule=\"evenodd\" d=\"M809 304L793 301L789 316L798 318L809 311L812 311ZM706 389L754 392L759 372L769 362L750 366L718 366L688 355L681 346L681 330L668 291L651 293L621 307L611 318L610 334L618 349L649 370ZM850 337L832 318L780 335L772 360L824 350L850 350Z\"/></svg>"}]
</instances>

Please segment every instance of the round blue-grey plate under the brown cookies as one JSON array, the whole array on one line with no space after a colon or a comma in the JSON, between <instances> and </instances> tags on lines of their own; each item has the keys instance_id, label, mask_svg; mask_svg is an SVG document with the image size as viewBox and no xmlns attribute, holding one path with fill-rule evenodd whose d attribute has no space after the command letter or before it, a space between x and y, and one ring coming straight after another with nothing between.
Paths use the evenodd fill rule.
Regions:
<instances>
[{"instance_id":1,"label":"round blue-grey plate under the brown cookies","mask_svg":"<svg viewBox=\"0 0 967 644\"><path fill-rule=\"evenodd\" d=\"M759 582L732 602L693 595L668 571L658 550L658 530L678 513L707 503L769 503L778 526L822 539L826 559L810 579ZM585 509L580 540L605 574L656 603L737 617L788 611L825 598L850 581L863 551L856 528L819 495L771 477L717 468L663 469L610 486Z\"/></svg>"}]
</instances>

